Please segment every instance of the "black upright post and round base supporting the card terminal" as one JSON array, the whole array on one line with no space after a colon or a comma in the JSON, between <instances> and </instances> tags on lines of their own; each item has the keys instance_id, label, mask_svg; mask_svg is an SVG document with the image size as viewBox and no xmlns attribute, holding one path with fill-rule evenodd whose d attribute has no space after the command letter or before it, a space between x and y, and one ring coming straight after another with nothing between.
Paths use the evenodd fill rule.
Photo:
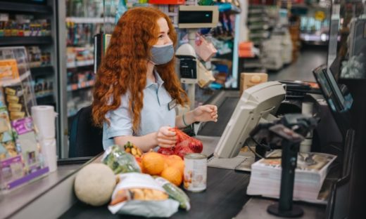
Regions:
<instances>
[{"instance_id":1,"label":"black upright post and round base supporting the card terminal","mask_svg":"<svg viewBox=\"0 0 366 219\"><path fill-rule=\"evenodd\" d=\"M270 132L283 139L281 158L282 175L279 203L268 206L267 211L272 215L280 217L299 217L303 215L303 209L292 204L292 197L294 194L297 154L300 148L300 142L303 141L304 138L282 124L272 126Z\"/></svg>"}]
</instances>

